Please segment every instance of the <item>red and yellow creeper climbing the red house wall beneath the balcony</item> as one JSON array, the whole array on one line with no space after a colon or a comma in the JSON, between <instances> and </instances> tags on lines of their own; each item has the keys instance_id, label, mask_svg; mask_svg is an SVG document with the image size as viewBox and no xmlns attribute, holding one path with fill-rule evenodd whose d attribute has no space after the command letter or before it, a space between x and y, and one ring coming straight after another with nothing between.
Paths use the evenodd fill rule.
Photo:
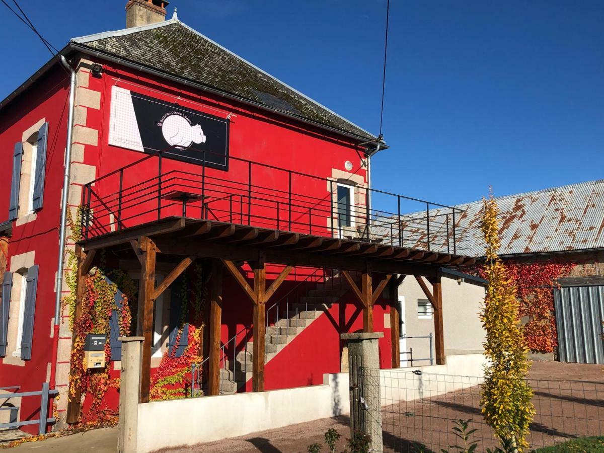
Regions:
<instances>
[{"instance_id":1,"label":"red and yellow creeper climbing the red house wall beneath the balcony","mask_svg":"<svg viewBox=\"0 0 604 453\"><path fill-rule=\"evenodd\" d=\"M78 211L81 218L82 210ZM68 215L69 227L71 229L70 239L78 242L82 239L80 222L74 222L71 213ZM120 269L106 269L104 255L101 254L100 264L91 269L85 278L85 288L82 297L80 316L75 318L76 292L77 292L77 256L74 251L66 251L65 281L69 293L63 297L63 307L69 310L69 327L75 332L75 340L72 345L70 358L71 374L69 376L69 399L82 395L88 395L91 404L82 413L80 423L82 425L112 424L117 422L117 408L103 407L103 398L109 388L119 388L120 380L112 376L111 347L109 345L110 327L109 319L112 311L118 315L118 326L120 336L130 335L135 332L132 313L137 312L138 292L137 284L129 275ZM182 277L179 300L181 300L181 316L178 323L178 333L175 344L165 351L159 367L156 368L151 380L152 399L172 399L186 396L187 373L192 364L200 364L201 357L199 349L201 335L203 332L205 301L207 300L206 288L203 281L202 266L196 263L194 267L194 279L191 287L187 281L187 275ZM122 295L121 308L115 301L118 288ZM172 307L175 309L176 307ZM176 350L182 340L183 327L192 323L187 329L188 344L184 353L176 357ZM105 363L103 369L87 370L84 367L84 342L89 333L107 335L105 344Z\"/></svg>"}]
</instances>

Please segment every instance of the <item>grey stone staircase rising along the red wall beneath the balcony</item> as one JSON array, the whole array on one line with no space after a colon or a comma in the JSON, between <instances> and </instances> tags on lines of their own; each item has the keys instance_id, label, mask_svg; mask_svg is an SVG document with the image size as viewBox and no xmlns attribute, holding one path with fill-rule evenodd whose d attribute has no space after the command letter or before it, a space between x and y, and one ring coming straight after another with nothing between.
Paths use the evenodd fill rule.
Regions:
<instances>
[{"instance_id":1,"label":"grey stone staircase rising along the red wall beneath the balcony","mask_svg":"<svg viewBox=\"0 0 604 453\"><path fill-rule=\"evenodd\" d=\"M336 275L324 283L316 283L315 289L310 289L307 296L301 297L297 303L290 304L289 313L281 310L278 320L275 314L269 313L272 316L270 321L274 325L266 327L265 364L336 303L347 292L346 284ZM221 394L235 393L252 378L253 351L254 343L248 341L245 349L237 353L234 361L232 357L226 359L220 369Z\"/></svg>"}]
</instances>

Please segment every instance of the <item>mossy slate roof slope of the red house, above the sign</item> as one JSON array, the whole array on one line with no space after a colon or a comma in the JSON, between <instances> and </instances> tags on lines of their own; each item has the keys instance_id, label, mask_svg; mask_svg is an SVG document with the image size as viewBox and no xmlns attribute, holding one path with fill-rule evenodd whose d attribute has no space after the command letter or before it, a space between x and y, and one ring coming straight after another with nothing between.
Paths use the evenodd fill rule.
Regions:
<instances>
[{"instance_id":1,"label":"mossy slate roof slope of the red house, above the sign","mask_svg":"<svg viewBox=\"0 0 604 453\"><path fill-rule=\"evenodd\" d=\"M357 137L375 138L178 19L74 38L71 42Z\"/></svg>"}]
</instances>

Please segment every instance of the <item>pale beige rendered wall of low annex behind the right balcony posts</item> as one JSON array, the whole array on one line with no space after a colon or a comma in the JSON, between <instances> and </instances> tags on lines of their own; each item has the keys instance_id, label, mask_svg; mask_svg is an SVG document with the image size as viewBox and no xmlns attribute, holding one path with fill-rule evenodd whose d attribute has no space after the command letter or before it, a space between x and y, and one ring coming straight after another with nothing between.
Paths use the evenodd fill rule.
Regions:
<instances>
[{"instance_id":1,"label":"pale beige rendered wall of low annex behind the right balcony posts","mask_svg":"<svg viewBox=\"0 0 604 453\"><path fill-rule=\"evenodd\" d=\"M443 324L445 330L445 354L459 355L482 353L485 332L478 318L484 301L484 287L472 283L458 283L451 278L442 279L443 286ZM422 319L417 313L417 300L426 299L416 279L407 277L399 287L399 297L405 298L405 323L401 334L406 336L434 335L434 319ZM400 352L413 348L414 358L428 358L428 339L406 339L402 341ZM434 353L434 349L432 350ZM410 366L410 355L401 354L401 366ZM414 365L426 365L428 361L414 362Z\"/></svg>"}]
</instances>

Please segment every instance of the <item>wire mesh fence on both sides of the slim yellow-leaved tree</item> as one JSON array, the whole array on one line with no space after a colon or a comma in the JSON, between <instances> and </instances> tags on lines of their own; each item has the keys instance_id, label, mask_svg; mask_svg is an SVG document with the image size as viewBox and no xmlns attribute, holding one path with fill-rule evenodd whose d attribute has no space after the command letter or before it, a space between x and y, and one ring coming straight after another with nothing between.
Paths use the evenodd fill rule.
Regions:
<instances>
[{"instance_id":1,"label":"wire mesh fence on both sides of the slim yellow-leaved tree","mask_svg":"<svg viewBox=\"0 0 604 453\"><path fill-rule=\"evenodd\" d=\"M411 370L362 370L364 389L353 401L365 417L381 420L383 451L440 452L460 445L452 430L458 420L472 420L469 442L476 452L500 446L481 414L482 377L429 374ZM604 382L529 379L535 417L527 442L530 451L604 432ZM367 405L364 393L379 385L381 407ZM370 388L372 387L373 388ZM378 416L379 413L379 416ZM373 429L376 431L376 429ZM374 434L375 435L375 434ZM457 449L451 449L457 451Z\"/></svg>"}]
</instances>

